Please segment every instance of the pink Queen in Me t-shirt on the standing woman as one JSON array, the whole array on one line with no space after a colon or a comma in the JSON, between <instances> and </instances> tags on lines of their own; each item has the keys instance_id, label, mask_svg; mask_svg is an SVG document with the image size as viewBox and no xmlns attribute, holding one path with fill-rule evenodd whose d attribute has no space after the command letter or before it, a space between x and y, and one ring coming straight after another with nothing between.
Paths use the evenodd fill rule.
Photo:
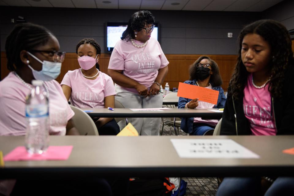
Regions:
<instances>
[{"instance_id":1,"label":"pink Queen in Me t-shirt on the standing woman","mask_svg":"<svg viewBox=\"0 0 294 196\"><path fill-rule=\"evenodd\" d=\"M143 44L137 40L134 42L138 45ZM150 88L158 75L158 70L168 63L160 44L154 38L150 38L148 44L142 48L134 47L130 41L119 40L112 51L108 69L123 70L123 75ZM138 93L136 89L122 88Z\"/></svg>"}]
</instances>

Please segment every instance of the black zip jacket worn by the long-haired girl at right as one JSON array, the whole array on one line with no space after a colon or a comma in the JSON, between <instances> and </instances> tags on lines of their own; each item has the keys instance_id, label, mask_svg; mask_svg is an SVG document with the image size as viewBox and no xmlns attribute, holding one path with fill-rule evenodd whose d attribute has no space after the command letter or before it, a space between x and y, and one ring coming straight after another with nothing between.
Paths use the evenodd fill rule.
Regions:
<instances>
[{"instance_id":1,"label":"black zip jacket worn by the long-haired girl at right","mask_svg":"<svg viewBox=\"0 0 294 196\"><path fill-rule=\"evenodd\" d=\"M294 72L292 67L290 70L285 75L282 98L271 97L271 110L277 135L294 134ZM229 86L228 92L230 90ZM243 97L239 97L238 100L233 96L227 97L220 135L251 135L250 124L243 111Z\"/></svg>"}]
</instances>

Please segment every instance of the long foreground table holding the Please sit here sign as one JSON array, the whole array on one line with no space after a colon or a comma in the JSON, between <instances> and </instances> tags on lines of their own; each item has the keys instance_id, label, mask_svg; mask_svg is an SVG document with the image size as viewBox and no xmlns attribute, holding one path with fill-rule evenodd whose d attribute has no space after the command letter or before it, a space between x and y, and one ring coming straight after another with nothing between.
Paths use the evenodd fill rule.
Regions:
<instances>
[{"instance_id":1,"label":"long foreground table holding the Please sit here sign","mask_svg":"<svg viewBox=\"0 0 294 196\"><path fill-rule=\"evenodd\" d=\"M180 158L171 139L232 139L259 158ZM6 155L25 144L22 136L1 136ZM68 160L6 161L0 179L56 179L111 176L216 177L294 176L294 136L50 136L50 145L73 145Z\"/></svg>"}]
</instances>

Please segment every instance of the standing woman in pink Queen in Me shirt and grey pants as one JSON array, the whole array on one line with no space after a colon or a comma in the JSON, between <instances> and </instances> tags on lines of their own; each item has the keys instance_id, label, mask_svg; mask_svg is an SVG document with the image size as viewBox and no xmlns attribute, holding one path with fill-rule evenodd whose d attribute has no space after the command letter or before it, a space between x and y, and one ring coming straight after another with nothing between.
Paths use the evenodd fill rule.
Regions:
<instances>
[{"instance_id":1,"label":"standing woman in pink Queen in Me shirt and grey pants","mask_svg":"<svg viewBox=\"0 0 294 196\"><path fill-rule=\"evenodd\" d=\"M112 51L108 74L116 83L115 99L125 108L162 107L160 84L169 62L158 41L151 38L154 22L149 11L134 13ZM129 122L141 135L159 135L160 118L132 118Z\"/></svg>"}]
</instances>

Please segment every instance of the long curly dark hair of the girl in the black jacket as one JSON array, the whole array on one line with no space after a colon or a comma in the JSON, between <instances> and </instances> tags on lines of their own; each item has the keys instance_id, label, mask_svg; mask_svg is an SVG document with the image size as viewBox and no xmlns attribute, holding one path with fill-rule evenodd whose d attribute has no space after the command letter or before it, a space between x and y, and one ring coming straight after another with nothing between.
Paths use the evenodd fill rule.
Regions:
<instances>
[{"instance_id":1,"label":"long curly dark hair of the girl in the black jacket","mask_svg":"<svg viewBox=\"0 0 294 196\"><path fill-rule=\"evenodd\" d=\"M293 52L291 39L288 30L281 23L273 20L259 20L243 28L239 35L239 51L236 68L230 81L228 98L232 95L235 99L244 96L244 88L247 85L249 72L246 70L242 58L241 49L244 36L247 34L258 34L269 43L271 59L269 61L270 80L269 92L271 96L280 98L282 93L283 81L289 64L293 65Z\"/></svg>"}]
</instances>

